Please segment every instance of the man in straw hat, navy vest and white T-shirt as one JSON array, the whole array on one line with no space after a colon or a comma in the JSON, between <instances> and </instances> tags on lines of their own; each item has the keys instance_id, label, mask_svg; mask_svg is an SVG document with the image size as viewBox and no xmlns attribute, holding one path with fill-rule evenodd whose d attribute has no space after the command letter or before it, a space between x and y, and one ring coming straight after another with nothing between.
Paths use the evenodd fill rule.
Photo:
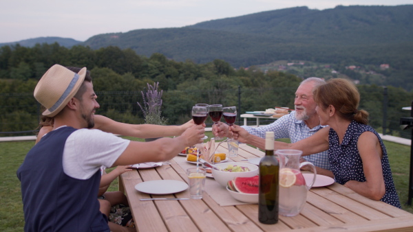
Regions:
<instances>
[{"instance_id":1,"label":"man in straw hat, navy vest and white T-shirt","mask_svg":"<svg viewBox=\"0 0 413 232\"><path fill-rule=\"evenodd\" d=\"M99 104L85 73L86 68L74 73L54 65L34 89L36 100L47 108L43 115L54 117L55 129L17 170L25 231L109 231L96 198L100 166L169 160L204 136L204 128L194 125L180 137L140 143L87 129L94 126Z\"/></svg>"}]
</instances>

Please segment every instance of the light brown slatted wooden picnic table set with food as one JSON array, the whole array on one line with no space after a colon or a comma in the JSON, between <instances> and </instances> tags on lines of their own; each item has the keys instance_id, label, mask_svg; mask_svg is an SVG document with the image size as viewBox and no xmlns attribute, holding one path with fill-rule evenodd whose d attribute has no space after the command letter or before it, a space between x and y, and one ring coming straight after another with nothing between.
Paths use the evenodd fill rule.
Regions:
<instances>
[{"instance_id":1,"label":"light brown slatted wooden picnic table set with food","mask_svg":"<svg viewBox=\"0 0 413 232\"><path fill-rule=\"evenodd\" d=\"M217 152L228 151L226 143ZM234 161L263 156L264 153L242 144ZM231 157L232 158L232 157ZM177 159L177 158L176 158ZM120 188L134 215L137 231L413 231L413 214L381 201L370 200L334 183L310 189L307 203L298 216L279 216L277 224L258 222L258 205L221 207L207 193L202 200L140 201L150 198L134 186L142 181L178 180L187 182L185 171L171 165L125 172ZM189 198L189 191L164 196Z\"/></svg>"}]
</instances>

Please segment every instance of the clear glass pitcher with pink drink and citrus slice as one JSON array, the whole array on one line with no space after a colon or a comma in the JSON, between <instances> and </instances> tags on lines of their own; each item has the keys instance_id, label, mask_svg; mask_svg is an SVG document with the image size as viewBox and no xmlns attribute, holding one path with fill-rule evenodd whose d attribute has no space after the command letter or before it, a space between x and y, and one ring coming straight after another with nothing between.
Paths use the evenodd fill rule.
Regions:
<instances>
[{"instance_id":1,"label":"clear glass pitcher with pink drink and citrus slice","mask_svg":"<svg viewBox=\"0 0 413 232\"><path fill-rule=\"evenodd\" d=\"M306 205L307 192L313 187L317 176L315 166L310 162L299 163L301 150L277 150L279 158L279 215L296 216ZM313 182L306 184L300 168L310 165L313 168Z\"/></svg>"}]
</instances>

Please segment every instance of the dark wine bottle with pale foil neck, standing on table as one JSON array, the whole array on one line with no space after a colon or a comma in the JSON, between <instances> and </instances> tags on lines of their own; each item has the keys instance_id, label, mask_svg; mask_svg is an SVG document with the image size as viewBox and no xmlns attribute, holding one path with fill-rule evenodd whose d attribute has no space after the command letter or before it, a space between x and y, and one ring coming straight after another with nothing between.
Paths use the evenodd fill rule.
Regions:
<instances>
[{"instance_id":1,"label":"dark wine bottle with pale foil neck, standing on table","mask_svg":"<svg viewBox=\"0 0 413 232\"><path fill-rule=\"evenodd\" d=\"M278 173L279 165L274 157L274 132L265 134L265 156L260 161L260 192L258 220L264 224L278 222Z\"/></svg>"}]
</instances>

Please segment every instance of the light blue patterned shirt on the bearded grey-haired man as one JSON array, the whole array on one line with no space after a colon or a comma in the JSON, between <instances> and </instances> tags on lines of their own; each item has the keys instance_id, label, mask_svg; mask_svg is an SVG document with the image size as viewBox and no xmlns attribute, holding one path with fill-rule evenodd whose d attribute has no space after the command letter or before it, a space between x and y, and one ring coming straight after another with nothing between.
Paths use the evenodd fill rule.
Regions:
<instances>
[{"instance_id":1,"label":"light blue patterned shirt on the bearded grey-haired man","mask_svg":"<svg viewBox=\"0 0 413 232\"><path fill-rule=\"evenodd\" d=\"M257 137L265 138L266 131L273 131L275 139L289 138L291 143L295 143L306 137L314 135L315 132L319 131L324 126L315 126L315 128L308 128L306 123L302 120L295 119L295 111L288 115L280 117L272 124L266 126L260 126L253 128L250 126L242 126L251 135L256 135ZM324 168L326 170L331 170L330 163L328 163L328 152L320 152L317 154L310 154L308 156L303 156L304 159L313 163L317 167Z\"/></svg>"}]
</instances>

